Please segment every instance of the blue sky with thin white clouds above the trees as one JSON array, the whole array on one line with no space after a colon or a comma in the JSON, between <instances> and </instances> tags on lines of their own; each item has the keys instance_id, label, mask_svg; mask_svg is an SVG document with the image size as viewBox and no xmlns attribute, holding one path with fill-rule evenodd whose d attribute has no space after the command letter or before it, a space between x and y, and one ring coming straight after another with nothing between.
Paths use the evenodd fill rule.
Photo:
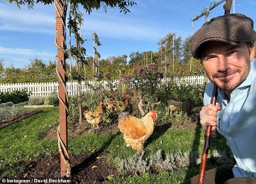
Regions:
<instances>
[{"instance_id":1,"label":"blue sky with thin white clouds above the trees","mask_svg":"<svg viewBox=\"0 0 256 184\"><path fill-rule=\"evenodd\" d=\"M157 42L168 33L176 33L184 40L191 36L205 22L199 15L204 7L209 7L214 0L134 0L137 6L130 7L131 13L124 15L118 8L93 10L84 15L82 26L84 47L87 56L93 56L92 33L95 31L101 42L101 59L110 56L129 56L131 52L157 52ZM219 0L216 0L219 1ZM223 15L224 3L214 8L209 19ZM256 0L235 0L235 13L243 13L256 22ZM231 8L233 13L233 6ZM255 29L254 25L254 29ZM68 38L68 32L67 32ZM55 7L54 5L35 4L33 9L6 0L0 2L0 58L4 67L13 64L25 67L34 58L45 63L54 61L56 55Z\"/></svg>"}]
</instances>

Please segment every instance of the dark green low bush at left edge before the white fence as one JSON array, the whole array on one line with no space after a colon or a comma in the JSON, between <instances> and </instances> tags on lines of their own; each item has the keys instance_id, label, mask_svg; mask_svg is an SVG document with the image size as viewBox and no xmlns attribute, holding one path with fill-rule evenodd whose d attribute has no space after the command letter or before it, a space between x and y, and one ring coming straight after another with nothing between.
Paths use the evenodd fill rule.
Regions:
<instances>
[{"instance_id":1,"label":"dark green low bush at left edge before the white fence","mask_svg":"<svg viewBox=\"0 0 256 184\"><path fill-rule=\"evenodd\" d=\"M0 103L13 102L17 104L19 102L28 101L30 95L27 90L20 91L0 92Z\"/></svg>"}]
</instances>

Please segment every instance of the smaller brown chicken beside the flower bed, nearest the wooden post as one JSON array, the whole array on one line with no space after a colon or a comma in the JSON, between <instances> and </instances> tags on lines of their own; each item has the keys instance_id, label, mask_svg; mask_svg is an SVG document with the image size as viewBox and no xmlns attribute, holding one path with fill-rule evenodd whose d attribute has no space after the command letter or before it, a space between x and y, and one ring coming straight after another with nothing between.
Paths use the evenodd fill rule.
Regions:
<instances>
[{"instance_id":1,"label":"smaller brown chicken beside the flower bed, nearest the wooden post","mask_svg":"<svg viewBox=\"0 0 256 184\"><path fill-rule=\"evenodd\" d=\"M95 125L97 128L99 128L99 123L102 121L102 114L103 114L103 103L102 100L99 101L99 105L97 106L96 111L90 111L88 107L83 107L83 115L88 123L91 124L92 128L95 128Z\"/></svg>"}]
</instances>

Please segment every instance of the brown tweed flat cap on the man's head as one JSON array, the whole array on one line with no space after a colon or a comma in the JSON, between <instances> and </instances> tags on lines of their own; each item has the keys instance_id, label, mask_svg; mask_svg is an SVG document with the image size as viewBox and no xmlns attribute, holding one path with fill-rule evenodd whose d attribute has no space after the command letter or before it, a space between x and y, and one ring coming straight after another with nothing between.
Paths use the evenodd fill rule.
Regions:
<instances>
[{"instance_id":1,"label":"brown tweed flat cap on the man's head","mask_svg":"<svg viewBox=\"0 0 256 184\"><path fill-rule=\"evenodd\" d=\"M230 45L240 42L254 42L256 32L253 21L243 14L234 13L211 19L195 32L191 38L191 53L194 58L200 57L200 46L209 41L220 41Z\"/></svg>"}]
</instances>

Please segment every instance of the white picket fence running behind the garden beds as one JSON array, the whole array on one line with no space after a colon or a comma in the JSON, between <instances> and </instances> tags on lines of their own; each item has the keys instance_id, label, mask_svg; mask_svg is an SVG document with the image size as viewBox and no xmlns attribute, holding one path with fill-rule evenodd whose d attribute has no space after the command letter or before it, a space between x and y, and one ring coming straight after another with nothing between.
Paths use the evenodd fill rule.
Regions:
<instances>
[{"instance_id":1,"label":"white picket fence running behind the garden beds","mask_svg":"<svg viewBox=\"0 0 256 184\"><path fill-rule=\"evenodd\" d=\"M168 84L171 79L167 78L162 79L162 85ZM181 77L181 78L174 78L173 81L177 82L178 85L181 84L205 84L208 82L207 77L200 75L200 76L188 76L188 77ZM82 92L92 91L91 86L101 84L104 86L105 89L108 89L109 81L89 81L87 83L81 83L81 90ZM112 80L111 84L116 86L118 84L118 80ZM66 88L68 95L76 94L78 89L77 82L67 82ZM17 91L26 89L30 96L49 96L51 92L57 92L59 89L58 82L40 82L40 83L22 83L22 84L0 84L0 92L9 92L9 91Z\"/></svg>"}]
</instances>

